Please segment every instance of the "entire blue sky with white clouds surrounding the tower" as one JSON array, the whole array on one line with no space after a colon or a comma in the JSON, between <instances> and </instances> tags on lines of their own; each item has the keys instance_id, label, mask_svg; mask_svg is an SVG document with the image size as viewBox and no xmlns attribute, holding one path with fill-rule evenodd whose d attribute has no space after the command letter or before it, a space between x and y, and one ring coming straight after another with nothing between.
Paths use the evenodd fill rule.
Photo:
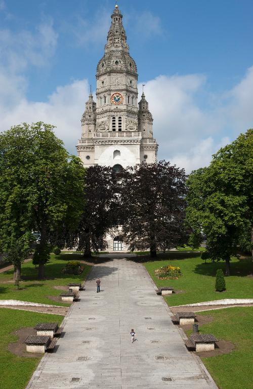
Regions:
<instances>
[{"instance_id":1,"label":"entire blue sky with white clouds surrounding the tower","mask_svg":"<svg viewBox=\"0 0 253 389\"><path fill-rule=\"evenodd\" d=\"M43 120L70 152L115 2L0 0L0 130ZM253 2L119 0L158 158L187 171L253 127ZM139 89L139 92L141 90Z\"/></svg>"}]
</instances>

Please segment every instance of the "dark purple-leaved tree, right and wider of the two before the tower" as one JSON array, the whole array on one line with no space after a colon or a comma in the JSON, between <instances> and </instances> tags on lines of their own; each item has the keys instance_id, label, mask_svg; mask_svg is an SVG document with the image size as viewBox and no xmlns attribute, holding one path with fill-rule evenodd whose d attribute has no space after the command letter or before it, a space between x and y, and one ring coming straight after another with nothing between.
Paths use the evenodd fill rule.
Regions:
<instances>
[{"instance_id":1,"label":"dark purple-leaved tree, right and wider of the two before the tower","mask_svg":"<svg viewBox=\"0 0 253 389\"><path fill-rule=\"evenodd\" d=\"M121 202L124 223L121 238L132 250L170 248L186 241L185 171L169 162L141 164L123 170Z\"/></svg>"}]
</instances>

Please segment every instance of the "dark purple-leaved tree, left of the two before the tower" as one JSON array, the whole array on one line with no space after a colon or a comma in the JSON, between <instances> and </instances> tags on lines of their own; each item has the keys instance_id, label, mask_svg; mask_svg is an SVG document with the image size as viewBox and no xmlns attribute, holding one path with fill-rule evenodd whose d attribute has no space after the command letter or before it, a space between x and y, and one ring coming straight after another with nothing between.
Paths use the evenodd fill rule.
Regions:
<instances>
[{"instance_id":1,"label":"dark purple-leaved tree, left of the two before the tower","mask_svg":"<svg viewBox=\"0 0 253 389\"><path fill-rule=\"evenodd\" d=\"M119 182L111 167L95 165L87 169L83 185L82 216L68 245L90 257L92 250L107 248L106 235L120 222Z\"/></svg>"}]
</instances>

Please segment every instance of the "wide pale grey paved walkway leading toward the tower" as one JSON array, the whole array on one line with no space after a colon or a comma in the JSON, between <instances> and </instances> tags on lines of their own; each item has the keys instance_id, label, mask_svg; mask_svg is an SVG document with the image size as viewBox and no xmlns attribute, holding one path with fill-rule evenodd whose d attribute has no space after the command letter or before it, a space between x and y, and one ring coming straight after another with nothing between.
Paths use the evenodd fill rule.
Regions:
<instances>
[{"instance_id":1,"label":"wide pale grey paved walkway leading toward the tower","mask_svg":"<svg viewBox=\"0 0 253 389\"><path fill-rule=\"evenodd\" d=\"M217 388L187 351L141 264L120 258L94 266L85 287L64 320L56 352L45 355L27 388Z\"/></svg>"}]
</instances>

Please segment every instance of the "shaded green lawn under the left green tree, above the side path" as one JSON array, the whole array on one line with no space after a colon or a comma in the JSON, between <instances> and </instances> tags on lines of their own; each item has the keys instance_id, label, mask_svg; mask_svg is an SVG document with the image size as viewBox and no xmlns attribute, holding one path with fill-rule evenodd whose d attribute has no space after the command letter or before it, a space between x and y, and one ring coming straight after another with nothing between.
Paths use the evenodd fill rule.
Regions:
<instances>
[{"instance_id":1,"label":"shaded green lawn under the left green tree, above the side path","mask_svg":"<svg viewBox=\"0 0 253 389\"><path fill-rule=\"evenodd\" d=\"M54 289L54 286L67 285L70 282L82 283L85 280L91 269L91 266L86 264L83 264L85 267L83 273L78 276L63 275L61 273L66 261L76 259L82 259L81 254L51 254L50 262L45 265L45 280L37 279L37 268L32 262L22 264L21 277L24 281L20 283L20 290L17 290L13 283L6 283L13 279L13 270L0 274L0 299L68 306L69 304L53 301L48 296L59 296L61 294L61 291Z\"/></svg>"}]
</instances>

